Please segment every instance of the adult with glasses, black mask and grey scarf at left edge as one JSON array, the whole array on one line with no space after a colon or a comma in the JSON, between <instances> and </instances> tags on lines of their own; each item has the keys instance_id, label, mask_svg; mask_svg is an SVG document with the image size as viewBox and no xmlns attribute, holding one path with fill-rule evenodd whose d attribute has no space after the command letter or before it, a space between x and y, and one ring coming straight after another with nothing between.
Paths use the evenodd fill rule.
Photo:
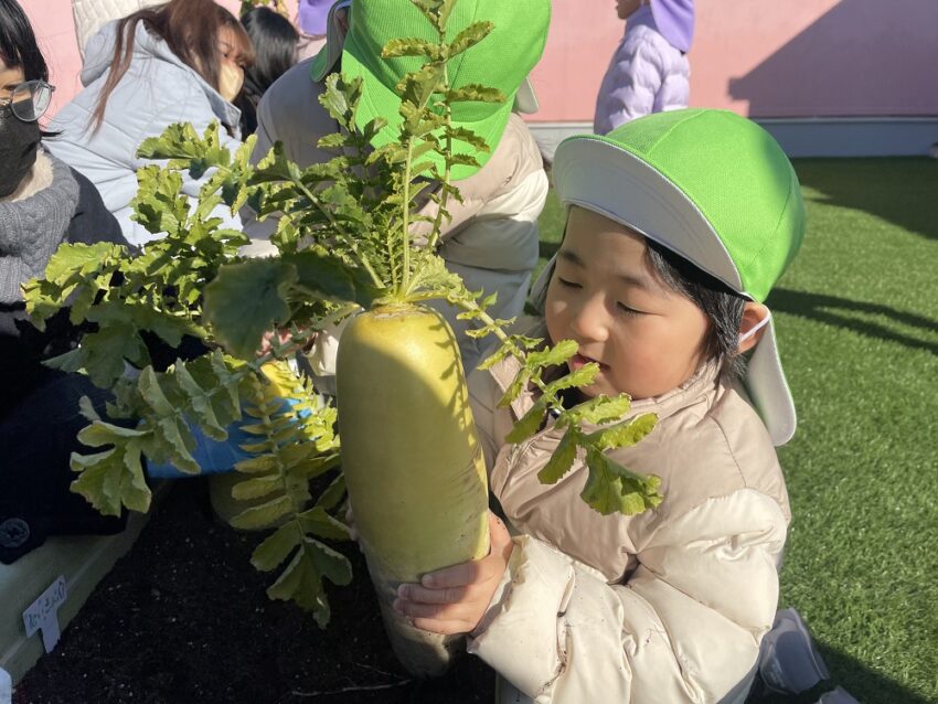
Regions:
<instances>
[{"instance_id":1,"label":"adult with glasses, black mask and grey scarf at left edge","mask_svg":"<svg viewBox=\"0 0 938 704\"><path fill-rule=\"evenodd\" d=\"M42 276L63 242L127 244L95 186L43 148L40 118L53 87L23 10L0 0L0 562L10 563L46 534L109 533L68 491L68 456L85 425L78 398L102 393L78 374L41 361L68 351L76 331L67 312L33 328L20 285ZM45 135L47 136L47 135Z\"/></svg>"}]
</instances>

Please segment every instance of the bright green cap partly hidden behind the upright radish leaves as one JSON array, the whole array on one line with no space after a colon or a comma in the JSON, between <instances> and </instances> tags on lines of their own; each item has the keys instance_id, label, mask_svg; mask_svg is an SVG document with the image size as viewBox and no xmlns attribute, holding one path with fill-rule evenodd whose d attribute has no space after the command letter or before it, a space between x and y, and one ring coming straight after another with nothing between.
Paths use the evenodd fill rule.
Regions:
<instances>
[{"instance_id":1,"label":"bright green cap partly hidden behind the upright radish leaves","mask_svg":"<svg viewBox=\"0 0 938 704\"><path fill-rule=\"evenodd\" d=\"M338 2L333 12L347 2ZM505 124L516 105L522 111L534 111L536 98L527 74L541 60L551 21L550 0L459 0L447 22L447 40L473 22L490 21L492 32L479 44L450 60L448 77L454 88L481 84L499 89L507 100L492 103L457 103L452 106L455 127L471 129L488 142L490 150L477 153L476 148L456 140L456 153L475 154L480 167L494 151ZM332 22L330 21L330 25ZM337 40L339 33L333 32ZM330 35L332 36L332 35ZM393 39L416 38L437 41L430 25L413 0L354 0L349 7L349 31L338 51L338 41L327 40L326 47L311 65L313 79L321 81L341 57L342 73L363 81L358 119L365 124L375 117L388 121L372 143L381 147L396 139L401 126L401 99L395 86L404 74L416 71L423 60L413 56L382 58L384 45ZM331 46L330 46L331 44ZM427 158L441 162L435 153ZM454 180L466 179L479 167L456 166Z\"/></svg>"}]
</instances>

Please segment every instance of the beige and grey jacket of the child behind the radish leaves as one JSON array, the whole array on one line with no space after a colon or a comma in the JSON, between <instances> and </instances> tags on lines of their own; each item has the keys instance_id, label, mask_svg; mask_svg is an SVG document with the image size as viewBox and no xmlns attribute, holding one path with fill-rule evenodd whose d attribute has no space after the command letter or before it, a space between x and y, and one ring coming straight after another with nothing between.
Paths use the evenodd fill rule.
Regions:
<instances>
[{"instance_id":1,"label":"beige and grey jacket of the child behind the radish leaves","mask_svg":"<svg viewBox=\"0 0 938 704\"><path fill-rule=\"evenodd\" d=\"M259 161L275 142L284 145L288 158L301 168L328 161L333 154L317 149L318 140L338 130L338 125L319 103L323 84L310 75L305 61L280 76L265 93L257 108L257 145L254 161ZM440 256L447 267L462 277L471 291L498 294L489 309L494 318L513 318L524 308L531 274L537 264L537 216L547 198L547 175L541 151L518 115L509 118L501 141L486 166L475 175L458 181L463 202L452 199L447 210L452 220L444 225ZM424 214L434 214L433 203ZM245 234L252 244L242 253L266 256L276 249L269 242L276 218L255 220L249 207L242 210ZM465 333L470 324L457 320L457 310L439 307L459 340L466 369L481 362L490 341L477 341ZM320 340L313 359L319 377L334 373L335 341ZM321 381L321 380L320 380ZM328 386L320 383L328 391Z\"/></svg>"}]
</instances>

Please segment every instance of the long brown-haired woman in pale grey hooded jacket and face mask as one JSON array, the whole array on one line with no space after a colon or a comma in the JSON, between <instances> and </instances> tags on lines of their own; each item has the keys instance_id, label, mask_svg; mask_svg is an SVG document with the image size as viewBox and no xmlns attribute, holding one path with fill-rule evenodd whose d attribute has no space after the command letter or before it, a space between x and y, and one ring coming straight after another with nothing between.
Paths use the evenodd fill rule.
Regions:
<instances>
[{"instance_id":1,"label":"long brown-haired woman in pale grey hooded jacket and face mask","mask_svg":"<svg viewBox=\"0 0 938 704\"><path fill-rule=\"evenodd\" d=\"M143 245L157 235L130 217L137 170L150 163L137 157L140 142L174 122L202 134L217 121L222 143L239 147L232 102L253 62L244 28L212 0L172 0L109 22L85 46L85 89L50 124L60 132L52 151L92 180L127 239ZM194 200L202 182L184 177L184 193ZM241 228L227 209L213 215Z\"/></svg>"}]
</instances>

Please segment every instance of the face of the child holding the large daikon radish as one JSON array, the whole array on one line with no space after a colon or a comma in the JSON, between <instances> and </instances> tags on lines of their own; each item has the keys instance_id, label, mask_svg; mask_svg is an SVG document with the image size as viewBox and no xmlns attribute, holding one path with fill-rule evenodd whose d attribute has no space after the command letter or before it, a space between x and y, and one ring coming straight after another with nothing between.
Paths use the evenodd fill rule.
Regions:
<instances>
[{"instance_id":1,"label":"face of the child holding the large daikon radish","mask_svg":"<svg viewBox=\"0 0 938 704\"><path fill-rule=\"evenodd\" d=\"M587 396L659 396L703 361L708 321L690 299L658 280L644 237L572 207L545 307L551 340L575 340L571 370L599 363Z\"/></svg>"}]
</instances>

